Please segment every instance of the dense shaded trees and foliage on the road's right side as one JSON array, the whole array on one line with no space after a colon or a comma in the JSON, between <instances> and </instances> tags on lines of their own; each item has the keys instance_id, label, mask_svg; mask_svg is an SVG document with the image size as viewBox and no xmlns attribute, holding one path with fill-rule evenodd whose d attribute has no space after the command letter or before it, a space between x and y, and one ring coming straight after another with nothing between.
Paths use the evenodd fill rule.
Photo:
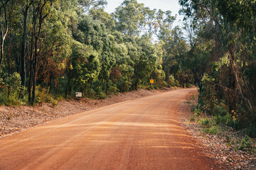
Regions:
<instances>
[{"instance_id":1,"label":"dense shaded trees and foliage on the road's right side","mask_svg":"<svg viewBox=\"0 0 256 170\"><path fill-rule=\"evenodd\" d=\"M191 44L186 65L200 88L201 111L216 123L254 129L255 2L179 0ZM193 28L193 29L191 29ZM249 128L250 127L250 128Z\"/></svg>"}]
</instances>

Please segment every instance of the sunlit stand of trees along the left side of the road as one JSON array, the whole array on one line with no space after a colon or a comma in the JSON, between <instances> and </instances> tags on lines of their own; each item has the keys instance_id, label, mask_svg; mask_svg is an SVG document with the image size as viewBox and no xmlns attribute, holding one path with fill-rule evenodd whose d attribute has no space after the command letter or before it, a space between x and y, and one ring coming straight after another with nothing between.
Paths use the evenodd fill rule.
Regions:
<instances>
[{"instance_id":1,"label":"sunlit stand of trees along the left side of the road","mask_svg":"<svg viewBox=\"0 0 256 170\"><path fill-rule=\"evenodd\" d=\"M125 0L114 13L105 0L0 1L0 103L163 86L190 86L183 69L189 45L171 11ZM158 42L154 43L154 39Z\"/></svg>"}]
</instances>

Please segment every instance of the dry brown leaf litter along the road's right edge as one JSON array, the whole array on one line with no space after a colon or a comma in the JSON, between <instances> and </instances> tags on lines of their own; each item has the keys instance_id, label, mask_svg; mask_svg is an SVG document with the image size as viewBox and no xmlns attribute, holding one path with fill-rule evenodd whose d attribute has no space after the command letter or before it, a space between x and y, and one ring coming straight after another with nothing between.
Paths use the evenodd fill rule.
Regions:
<instances>
[{"instance_id":1,"label":"dry brown leaf litter along the road's right edge","mask_svg":"<svg viewBox=\"0 0 256 170\"><path fill-rule=\"evenodd\" d=\"M196 139L201 152L207 157L215 159L223 169L246 169L256 170L256 139L251 139L254 145L250 150L238 149L238 142L245 138L240 131L235 131L228 126L223 127L221 134L209 134L203 132L203 129L196 121L191 121L193 117L193 106L196 105L198 94L189 94L187 101L181 103L181 125Z\"/></svg>"}]
</instances>

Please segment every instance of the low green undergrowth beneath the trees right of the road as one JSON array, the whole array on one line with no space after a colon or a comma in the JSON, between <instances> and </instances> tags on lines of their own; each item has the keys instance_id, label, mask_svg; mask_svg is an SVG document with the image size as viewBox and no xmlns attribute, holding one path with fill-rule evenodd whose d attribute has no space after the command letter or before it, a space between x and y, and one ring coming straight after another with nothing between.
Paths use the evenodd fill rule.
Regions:
<instances>
[{"instance_id":1,"label":"low green undergrowth beneath the trees right of the road","mask_svg":"<svg viewBox=\"0 0 256 170\"><path fill-rule=\"evenodd\" d=\"M193 100L195 97L191 96ZM242 128L237 118L223 106L215 107L215 115L209 115L197 106L192 106L193 115L189 118L189 122L197 123L201 127L203 134L217 135L225 138L226 144L230 149L242 150L251 154L256 154L256 140L253 137L256 130L251 125L249 128ZM234 112L234 111L232 111ZM250 134L252 133L252 134ZM232 146L232 147L231 147Z\"/></svg>"}]
</instances>

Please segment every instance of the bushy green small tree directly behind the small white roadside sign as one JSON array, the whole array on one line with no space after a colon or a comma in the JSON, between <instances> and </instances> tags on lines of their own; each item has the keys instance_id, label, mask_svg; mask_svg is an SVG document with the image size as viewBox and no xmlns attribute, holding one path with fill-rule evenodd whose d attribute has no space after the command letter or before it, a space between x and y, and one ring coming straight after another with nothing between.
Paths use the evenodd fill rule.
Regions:
<instances>
[{"instance_id":1,"label":"bushy green small tree directly behind the small white roadside sign","mask_svg":"<svg viewBox=\"0 0 256 170\"><path fill-rule=\"evenodd\" d=\"M100 62L96 51L92 46L83 45L73 41L72 54L68 62L68 82L65 95L70 94L72 89L91 94L92 82L97 79L100 72Z\"/></svg>"}]
</instances>

